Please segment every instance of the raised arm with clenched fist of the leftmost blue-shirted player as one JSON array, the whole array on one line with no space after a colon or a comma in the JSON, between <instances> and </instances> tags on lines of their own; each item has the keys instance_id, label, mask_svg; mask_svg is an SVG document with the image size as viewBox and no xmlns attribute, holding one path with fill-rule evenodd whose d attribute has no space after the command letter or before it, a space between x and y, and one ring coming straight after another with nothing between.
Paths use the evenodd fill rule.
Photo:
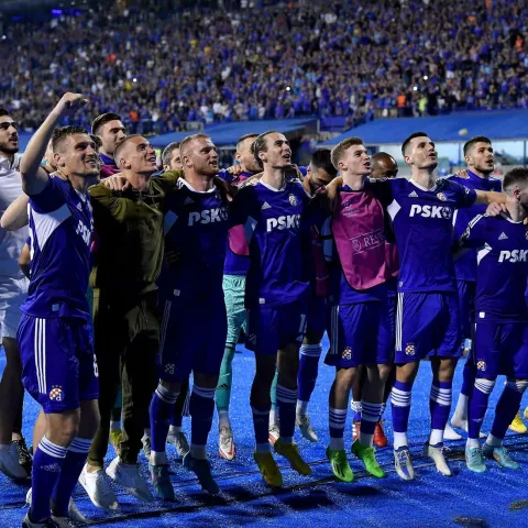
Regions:
<instances>
[{"instance_id":1,"label":"raised arm with clenched fist of the leftmost blue-shirted player","mask_svg":"<svg viewBox=\"0 0 528 528\"><path fill-rule=\"evenodd\" d=\"M28 195L37 195L47 184L48 174L41 167L42 158L53 131L65 116L72 116L88 102L80 94L65 94L52 113L41 124L28 144L20 164L22 188Z\"/></svg>"}]
</instances>

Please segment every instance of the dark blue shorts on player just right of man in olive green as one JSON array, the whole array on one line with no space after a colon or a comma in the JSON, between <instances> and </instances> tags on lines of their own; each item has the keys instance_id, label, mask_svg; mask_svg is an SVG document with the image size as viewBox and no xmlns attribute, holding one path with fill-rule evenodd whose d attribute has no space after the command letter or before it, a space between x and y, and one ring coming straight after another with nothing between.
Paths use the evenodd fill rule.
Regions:
<instances>
[{"instance_id":1,"label":"dark blue shorts on player just right of man in olive green","mask_svg":"<svg viewBox=\"0 0 528 528\"><path fill-rule=\"evenodd\" d=\"M228 336L223 297L199 302L175 296L161 298L160 310L160 378L183 383L191 372L218 376Z\"/></svg>"}]
</instances>

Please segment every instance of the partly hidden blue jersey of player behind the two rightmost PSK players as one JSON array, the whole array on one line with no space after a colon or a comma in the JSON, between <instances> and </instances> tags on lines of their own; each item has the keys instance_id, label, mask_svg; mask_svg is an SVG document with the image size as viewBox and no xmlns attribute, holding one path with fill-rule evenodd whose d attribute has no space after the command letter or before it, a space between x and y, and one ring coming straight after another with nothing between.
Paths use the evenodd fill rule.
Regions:
<instances>
[{"instance_id":1,"label":"partly hidden blue jersey of player behind the two rightmost PSK players","mask_svg":"<svg viewBox=\"0 0 528 528\"><path fill-rule=\"evenodd\" d=\"M501 193L502 183L498 178L490 176L481 178L471 170L468 170L468 178L451 176L451 182L457 182L470 189L495 190ZM486 206L472 206L466 209L458 209L453 216L453 240L459 240L468 228L468 224L477 215L484 215ZM476 250L469 250L460 258L454 261L454 274L458 280L476 280Z\"/></svg>"}]
</instances>

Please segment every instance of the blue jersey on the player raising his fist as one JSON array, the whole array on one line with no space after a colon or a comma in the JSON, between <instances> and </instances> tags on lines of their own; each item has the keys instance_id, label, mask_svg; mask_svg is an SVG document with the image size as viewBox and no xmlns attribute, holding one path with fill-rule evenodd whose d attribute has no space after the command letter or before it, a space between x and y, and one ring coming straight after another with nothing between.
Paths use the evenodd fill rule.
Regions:
<instances>
[{"instance_id":1,"label":"blue jersey on the player raising his fist","mask_svg":"<svg viewBox=\"0 0 528 528\"><path fill-rule=\"evenodd\" d=\"M30 196L31 279L21 310L38 318L91 320L86 292L94 219L88 194L50 176Z\"/></svg>"}]
</instances>

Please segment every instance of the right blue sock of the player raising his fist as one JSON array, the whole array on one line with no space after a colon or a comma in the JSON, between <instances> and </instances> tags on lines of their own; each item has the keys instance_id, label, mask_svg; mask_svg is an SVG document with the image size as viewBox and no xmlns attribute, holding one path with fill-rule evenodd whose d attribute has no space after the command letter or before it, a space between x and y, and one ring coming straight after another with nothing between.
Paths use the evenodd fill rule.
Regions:
<instances>
[{"instance_id":1,"label":"right blue sock of the player raising his fist","mask_svg":"<svg viewBox=\"0 0 528 528\"><path fill-rule=\"evenodd\" d=\"M82 466L88 458L91 440L75 438L69 444L68 453L63 462L61 475L53 488L53 514L58 517L68 515L69 499L79 479Z\"/></svg>"}]
</instances>

